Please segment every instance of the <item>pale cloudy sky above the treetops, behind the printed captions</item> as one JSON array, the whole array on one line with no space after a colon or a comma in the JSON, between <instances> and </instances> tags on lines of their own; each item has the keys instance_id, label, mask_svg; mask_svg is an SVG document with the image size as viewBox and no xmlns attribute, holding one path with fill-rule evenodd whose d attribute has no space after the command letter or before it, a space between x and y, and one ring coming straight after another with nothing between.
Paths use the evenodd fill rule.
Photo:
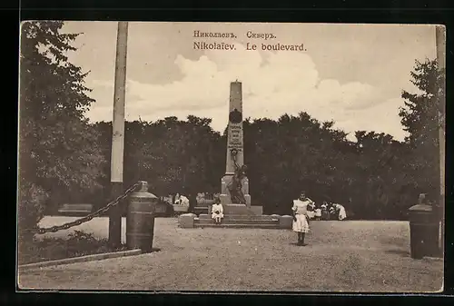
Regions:
<instances>
[{"instance_id":1,"label":"pale cloudy sky above the treetops, behind the printed captions","mask_svg":"<svg viewBox=\"0 0 454 306\"><path fill-rule=\"evenodd\" d=\"M194 37L232 33L234 38ZM248 37L248 32L275 38ZM90 71L96 102L86 116L112 121L116 22L65 22L83 33L69 60ZM235 50L194 50L194 42L234 44ZM246 50L247 44L257 50ZM304 51L262 51L262 44L303 44ZM432 25L129 23L126 120L155 121L188 114L212 118L223 132L230 83L242 82L243 116L278 119L307 112L354 140L358 130L407 135L400 124L402 90L415 60L436 57ZM251 49L251 48L250 48Z\"/></svg>"}]
</instances>

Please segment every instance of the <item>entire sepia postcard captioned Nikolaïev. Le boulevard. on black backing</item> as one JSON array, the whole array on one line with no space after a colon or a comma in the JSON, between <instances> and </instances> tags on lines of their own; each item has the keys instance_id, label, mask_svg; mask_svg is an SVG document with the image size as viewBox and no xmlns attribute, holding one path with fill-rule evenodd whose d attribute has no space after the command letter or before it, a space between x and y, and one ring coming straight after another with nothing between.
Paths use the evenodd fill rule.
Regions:
<instances>
[{"instance_id":1,"label":"entire sepia postcard captioned Nikola\u00efev. Le boulevard. on black backing","mask_svg":"<svg viewBox=\"0 0 454 306\"><path fill-rule=\"evenodd\" d=\"M17 290L442 292L445 44L23 22Z\"/></svg>"}]
</instances>

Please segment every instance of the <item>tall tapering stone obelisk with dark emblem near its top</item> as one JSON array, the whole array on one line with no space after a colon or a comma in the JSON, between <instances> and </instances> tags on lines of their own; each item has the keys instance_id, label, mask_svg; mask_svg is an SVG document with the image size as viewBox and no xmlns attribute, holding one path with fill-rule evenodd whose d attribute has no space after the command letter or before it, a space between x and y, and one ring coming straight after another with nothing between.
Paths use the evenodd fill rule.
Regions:
<instances>
[{"instance_id":1,"label":"tall tapering stone obelisk with dark emblem near its top","mask_svg":"<svg viewBox=\"0 0 454 306\"><path fill-rule=\"evenodd\" d=\"M227 128L227 154L225 163L225 175L221 180L221 202L224 206L242 205L244 208L251 206L249 194L249 180L242 178L243 202L232 202L230 192L233 175L238 167L244 164L244 143L242 131L242 83L235 81L230 85L229 123ZM228 207L227 207L228 208ZM229 209L227 209L229 211Z\"/></svg>"}]
</instances>

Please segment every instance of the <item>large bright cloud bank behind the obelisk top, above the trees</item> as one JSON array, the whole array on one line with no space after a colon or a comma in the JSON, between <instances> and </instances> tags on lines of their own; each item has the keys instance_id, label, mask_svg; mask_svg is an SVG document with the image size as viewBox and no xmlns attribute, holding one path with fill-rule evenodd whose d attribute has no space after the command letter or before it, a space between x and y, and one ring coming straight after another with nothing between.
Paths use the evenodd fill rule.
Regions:
<instances>
[{"instance_id":1,"label":"large bright cloud bank behind the obelisk top, above the trees","mask_svg":"<svg viewBox=\"0 0 454 306\"><path fill-rule=\"evenodd\" d=\"M236 44L235 51L207 51L196 61L178 55L174 64L183 74L178 81L143 84L128 77L127 119L139 115L143 120L171 115L183 119L195 114L211 117L212 127L222 132L227 123L230 83L238 79L245 117L277 119L281 114L307 112L321 121L334 120L348 133L402 133L395 107L389 109L399 101L387 101L371 84L321 79L308 54L246 51L244 45ZM113 91L113 81L93 84L94 93L102 88ZM113 94L109 99L112 101ZM106 104L94 104L88 116L93 121L111 120L112 107L110 112L107 109Z\"/></svg>"}]
</instances>

